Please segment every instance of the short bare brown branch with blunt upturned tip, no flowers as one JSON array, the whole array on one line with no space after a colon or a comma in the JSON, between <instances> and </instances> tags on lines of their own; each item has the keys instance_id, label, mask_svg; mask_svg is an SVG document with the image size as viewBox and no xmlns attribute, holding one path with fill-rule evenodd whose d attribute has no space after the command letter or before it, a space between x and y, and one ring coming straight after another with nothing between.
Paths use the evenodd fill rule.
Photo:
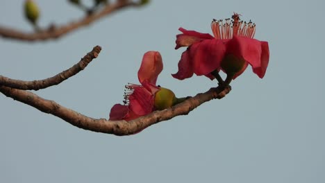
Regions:
<instances>
[{"instance_id":1,"label":"short bare brown branch with blunt upturned tip, no flowers","mask_svg":"<svg viewBox=\"0 0 325 183\"><path fill-rule=\"evenodd\" d=\"M33 89L33 90L38 90L38 89L44 89L47 87L51 87L53 85L58 85L60 82L63 82L64 80L67 80L67 78L70 78L79 71L85 69L87 65L92 62L94 58L97 58L99 53L101 52L101 46L94 46L94 49L87 53L81 60L77 63L74 64L73 67L62 71L61 73L56 74L56 76L53 76L51 78L47 78L44 80L33 80L33 81L24 81L24 80L14 80L7 78L5 76L0 75L0 86L6 86L6 87L11 87L15 89Z\"/></svg>"}]
</instances>

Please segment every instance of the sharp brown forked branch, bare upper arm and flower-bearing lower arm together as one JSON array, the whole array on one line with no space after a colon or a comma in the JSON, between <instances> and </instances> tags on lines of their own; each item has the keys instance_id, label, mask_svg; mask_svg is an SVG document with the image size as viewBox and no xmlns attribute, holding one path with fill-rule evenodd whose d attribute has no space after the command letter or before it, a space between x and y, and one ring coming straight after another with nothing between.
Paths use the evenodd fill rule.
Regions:
<instances>
[{"instance_id":1,"label":"sharp brown forked branch, bare upper arm and flower-bearing lower arm together","mask_svg":"<svg viewBox=\"0 0 325 183\"><path fill-rule=\"evenodd\" d=\"M24 91L24 89L37 90L50 87L52 85L58 85L60 82L63 82L63 80L66 80L67 78L74 76L76 73L83 70L92 61L92 59L97 58L100 51L101 47L95 46L90 53L85 55L85 57L73 67L45 80L22 81L12 80L10 78L1 76L0 92L16 101L31 105L42 112L58 116L60 119L63 119L78 128L91 130L93 132L128 135L140 132L144 130L144 128L147 128L150 125L160 121L172 119L174 116L188 114L202 103L210 101L213 98L223 98L226 96L226 94L228 94L228 92L231 91L230 86L211 88L208 92L197 94L196 96L188 98L183 103L179 103L171 108L151 112L151 114L148 114L147 116L141 116L140 118L133 119L131 121L108 121L106 119L94 119L59 105L55 101L49 101L36 94L33 94L32 92Z\"/></svg>"}]
</instances>

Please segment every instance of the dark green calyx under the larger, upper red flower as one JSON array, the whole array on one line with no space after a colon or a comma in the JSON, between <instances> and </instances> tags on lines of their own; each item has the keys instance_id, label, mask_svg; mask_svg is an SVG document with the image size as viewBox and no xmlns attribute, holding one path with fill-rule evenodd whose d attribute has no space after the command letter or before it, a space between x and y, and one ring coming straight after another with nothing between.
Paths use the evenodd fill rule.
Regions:
<instances>
[{"instance_id":1,"label":"dark green calyx under the larger, upper red flower","mask_svg":"<svg viewBox=\"0 0 325 183\"><path fill-rule=\"evenodd\" d=\"M220 66L227 75L235 75L236 73L242 71L246 64L246 61L242 58L237 58L235 55L226 55L222 62L220 63Z\"/></svg>"}]
</instances>

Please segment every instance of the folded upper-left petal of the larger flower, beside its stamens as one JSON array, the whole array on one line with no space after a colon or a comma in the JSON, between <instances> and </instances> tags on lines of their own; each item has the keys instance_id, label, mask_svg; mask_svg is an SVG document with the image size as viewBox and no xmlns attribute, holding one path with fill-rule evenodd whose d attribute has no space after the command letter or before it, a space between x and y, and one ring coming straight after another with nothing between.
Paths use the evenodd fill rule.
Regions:
<instances>
[{"instance_id":1,"label":"folded upper-left petal of the larger flower, beside its stamens","mask_svg":"<svg viewBox=\"0 0 325 183\"><path fill-rule=\"evenodd\" d=\"M175 49L180 48L181 46L191 46L195 42L200 42L201 40L211 40L214 37L207 33L199 33L194 30L186 30L185 28L178 28L183 34L176 35L176 47Z\"/></svg>"}]
</instances>

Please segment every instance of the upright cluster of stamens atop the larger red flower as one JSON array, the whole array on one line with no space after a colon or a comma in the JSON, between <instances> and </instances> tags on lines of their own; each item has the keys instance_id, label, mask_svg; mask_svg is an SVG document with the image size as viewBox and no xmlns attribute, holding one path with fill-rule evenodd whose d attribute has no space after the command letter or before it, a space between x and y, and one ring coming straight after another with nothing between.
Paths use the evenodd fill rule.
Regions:
<instances>
[{"instance_id":1,"label":"upright cluster of stamens atop the larger red flower","mask_svg":"<svg viewBox=\"0 0 325 183\"><path fill-rule=\"evenodd\" d=\"M232 19L232 20L231 20ZM231 39L234 35L253 38L255 35L256 24L246 21L240 21L240 15L234 13L231 19L213 19L211 22L211 29L215 39Z\"/></svg>"}]
</instances>

